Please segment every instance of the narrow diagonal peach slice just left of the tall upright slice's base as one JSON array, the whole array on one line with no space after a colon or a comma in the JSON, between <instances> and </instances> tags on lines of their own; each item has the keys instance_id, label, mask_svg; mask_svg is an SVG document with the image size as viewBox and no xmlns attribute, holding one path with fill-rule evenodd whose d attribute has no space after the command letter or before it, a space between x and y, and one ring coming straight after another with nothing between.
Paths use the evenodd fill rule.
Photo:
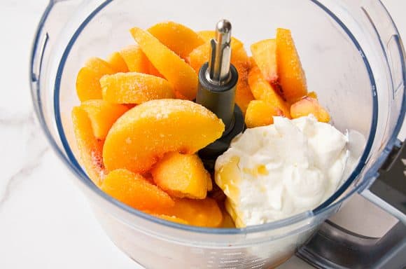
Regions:
<instances>
[{"instance_id":1,"label":"narrow diagonal peach slice just left of the tall upright slice's base","mask_svg":"<svg viewBox=\"0 0 406 269\"><path fill-rule=\"evenodd\" d=\"M258 67L254 66L249 72L248 83L255 99L272 104L283 112L283 116L290 118L289 105L278 95L275 88L265 80Z\"/></svg>"}]
</instances>

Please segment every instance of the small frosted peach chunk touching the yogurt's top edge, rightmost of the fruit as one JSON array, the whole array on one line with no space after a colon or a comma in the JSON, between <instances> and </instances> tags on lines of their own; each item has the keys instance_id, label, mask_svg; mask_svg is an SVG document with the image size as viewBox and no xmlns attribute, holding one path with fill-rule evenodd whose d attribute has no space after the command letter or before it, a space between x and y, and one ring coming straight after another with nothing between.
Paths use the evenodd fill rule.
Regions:
<instances>
[{"instance_id":1,"label":"small frosted peach chunk touching the yogurt's top edge, rightmost of the fruit","mask_svg":"<svg viewBox=\"0 0 406 269\"><path fill-rule=\"evenodd\" d=\"M304 97L290 106L290 115L292 118L300 118L309 114L313 114L317 120L322 123L328 123L330 121L330 115L318 103L317 99Z\"/></svg>"}]
</instances>

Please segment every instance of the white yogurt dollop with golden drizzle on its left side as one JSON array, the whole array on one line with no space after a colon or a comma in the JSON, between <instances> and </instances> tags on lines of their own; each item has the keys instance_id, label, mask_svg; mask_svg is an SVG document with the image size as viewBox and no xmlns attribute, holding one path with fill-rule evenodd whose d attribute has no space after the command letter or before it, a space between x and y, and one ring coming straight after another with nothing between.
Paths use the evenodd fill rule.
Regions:
<instances>
[{"instance_id":1,"label":"white yogurt dollop with golden drizzle on its left side","mask_svg":"<svg viewBox=\"0 0 406 269\"><path fill-rule=\"evenodd\" d=\"M348 139L314 116L248 129L216 160L215 180L237 228L314 209L339 186Z\"/></svg>"}]
</instances>

